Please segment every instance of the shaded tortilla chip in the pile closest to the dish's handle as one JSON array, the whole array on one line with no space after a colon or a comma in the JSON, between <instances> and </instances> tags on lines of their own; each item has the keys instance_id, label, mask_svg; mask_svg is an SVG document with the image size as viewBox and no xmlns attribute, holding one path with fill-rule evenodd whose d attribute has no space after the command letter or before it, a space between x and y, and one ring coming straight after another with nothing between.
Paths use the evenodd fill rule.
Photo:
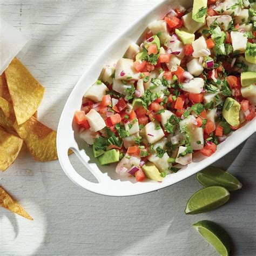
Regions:
<instances>
[{"instance_id":1,"label":"shaded tortilla chip in the pile closest to the dish's handle","mask_svg":"<svg viewBox=\"0 0 256 256\"><path fill-rule=\"evenodd\" d=\"M31 117L24 124L17 125L14 129L19 137L24 139L32 157L37 161L51 161L58 159L56 148L57 132Z\"/></svg>"}]
</instances>

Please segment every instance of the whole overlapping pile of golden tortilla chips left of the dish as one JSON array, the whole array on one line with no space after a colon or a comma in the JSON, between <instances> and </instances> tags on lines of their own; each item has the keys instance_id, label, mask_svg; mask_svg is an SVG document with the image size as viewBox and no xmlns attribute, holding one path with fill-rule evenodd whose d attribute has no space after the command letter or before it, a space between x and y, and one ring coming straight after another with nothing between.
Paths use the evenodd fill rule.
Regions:
<instances>
[{"instance_id":1,"label":"whole overlapping pile of golden tortilla chips left of the dish","mask_svg":"<svg viewBox=\"0 0 256 256\"><path fill-rule=\"evenodd\" d=\"M56 131L37 120L44 87L15 58L0 76L0 170L16 159L23 142L37 161L57 159Z\"/></svg>"}]
</instances>

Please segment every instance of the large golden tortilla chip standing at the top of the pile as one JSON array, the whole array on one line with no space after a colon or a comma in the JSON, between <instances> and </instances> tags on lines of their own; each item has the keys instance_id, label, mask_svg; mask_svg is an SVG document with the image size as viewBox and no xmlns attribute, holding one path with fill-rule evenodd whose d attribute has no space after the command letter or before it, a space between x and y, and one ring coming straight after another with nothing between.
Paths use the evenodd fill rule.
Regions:
<instances>
[{"instance_id":1,"label":"large golden tortilla chip standing at the top of the pile","mask_svg":"<svg viewBox=\"0 0 256 256\"><path fill-rule=\"evenodd\" d=\"M17 58L12 60L4 73L14 105L17 124L23 124L33 116L41 104L44 87Z\"/></svg>"}]
</instances>

